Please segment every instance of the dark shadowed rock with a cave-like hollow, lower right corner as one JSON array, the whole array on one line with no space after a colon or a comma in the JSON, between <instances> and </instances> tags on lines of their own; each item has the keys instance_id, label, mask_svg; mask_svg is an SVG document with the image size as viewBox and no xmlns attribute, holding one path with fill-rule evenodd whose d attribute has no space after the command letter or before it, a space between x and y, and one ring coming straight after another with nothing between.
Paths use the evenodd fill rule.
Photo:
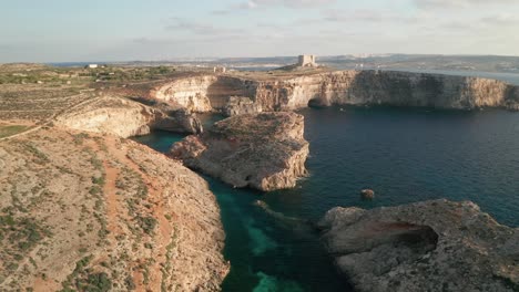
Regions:
<instances>
[{"instance_id":1,"label":"dark shadowed rock with a cave-like hollow, lower right corner","mask_svg":"<svg viewBox=\"0 0 519 292\"><path fill-rule=\"evenodd\" d=\"M519 288L519 230L470 201L334 208L319 226L337 267L359 291Z\"/></svg>"}]
</instances>

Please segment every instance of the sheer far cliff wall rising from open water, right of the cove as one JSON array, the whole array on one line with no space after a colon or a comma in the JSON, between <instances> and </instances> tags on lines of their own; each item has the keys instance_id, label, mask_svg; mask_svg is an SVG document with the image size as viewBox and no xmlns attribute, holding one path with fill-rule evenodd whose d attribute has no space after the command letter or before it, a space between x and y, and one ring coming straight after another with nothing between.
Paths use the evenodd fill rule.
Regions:
<instances>
[{"instance_id":1,"label":"sheer far cliff wall rising from open water, right of the cove","mask_svg":"<svg viewBox=\"0 0 519 292\"><path fill-rule=\"evenodd\" d=\"M515 108L519 91L500 81L478 77L343 71L261 82L255 98L266 111L296 109L308 104Z\"/></svg>"}]
</instances>

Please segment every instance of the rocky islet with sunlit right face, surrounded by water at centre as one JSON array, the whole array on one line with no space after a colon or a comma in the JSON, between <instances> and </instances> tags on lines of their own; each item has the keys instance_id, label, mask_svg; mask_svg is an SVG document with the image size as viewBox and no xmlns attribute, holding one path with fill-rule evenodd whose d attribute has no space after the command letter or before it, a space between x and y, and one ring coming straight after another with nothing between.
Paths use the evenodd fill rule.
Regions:
<instances>
[{"instance_id":1,"label":"rocky islet with sunlit right face, surrounded by water at centre","mask_svg":"<svg viewBox=\"0 0 519 292\"><path fill-rule=\"evenodd\" d=\"M173 145L171 156L235 187L294 187L306 174L308 143L295 113L238 115Z\"/></svg>"}]
</instances>

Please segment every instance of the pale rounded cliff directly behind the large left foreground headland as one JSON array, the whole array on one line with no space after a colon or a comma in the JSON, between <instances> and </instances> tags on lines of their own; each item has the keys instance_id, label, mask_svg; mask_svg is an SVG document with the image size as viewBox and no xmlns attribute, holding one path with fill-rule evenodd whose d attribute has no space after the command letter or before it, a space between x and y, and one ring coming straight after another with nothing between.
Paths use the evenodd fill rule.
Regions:
<instances>
[{"instance_id":1,"label":"pale rounded cliff directly behind the large left foreground headland","mask_svg":"<svg viewBox=\"0 0 519 292\"><path fill-rule=\"evenodd\" d=\"M120 137L146 135L151 129L199 133L201 124L185 109L171 115L150 106L120 97L104 96L73 108L57 118L57 125Z\"/></svg>"}]
</instances>

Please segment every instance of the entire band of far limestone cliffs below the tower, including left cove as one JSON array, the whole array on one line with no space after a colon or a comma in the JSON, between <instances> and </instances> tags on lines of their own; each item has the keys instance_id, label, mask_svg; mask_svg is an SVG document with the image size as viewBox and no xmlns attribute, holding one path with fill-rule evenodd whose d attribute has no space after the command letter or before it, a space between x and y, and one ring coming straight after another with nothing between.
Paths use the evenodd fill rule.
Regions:
<instances>
[{"instance_id":1,"label":"entire band of far limestone cliffs below the tower, including left cove","mask_svg":"<svg viewBox=\"0 0 519 292\"><path fill-rule=\"evenodd\" d=\"M232 96L264 112L334 104L519 109L519 87L501 81L396 71L194 76L162 84L151 96L195 112L222 111Z\"/></svg>"}]
</instances>

